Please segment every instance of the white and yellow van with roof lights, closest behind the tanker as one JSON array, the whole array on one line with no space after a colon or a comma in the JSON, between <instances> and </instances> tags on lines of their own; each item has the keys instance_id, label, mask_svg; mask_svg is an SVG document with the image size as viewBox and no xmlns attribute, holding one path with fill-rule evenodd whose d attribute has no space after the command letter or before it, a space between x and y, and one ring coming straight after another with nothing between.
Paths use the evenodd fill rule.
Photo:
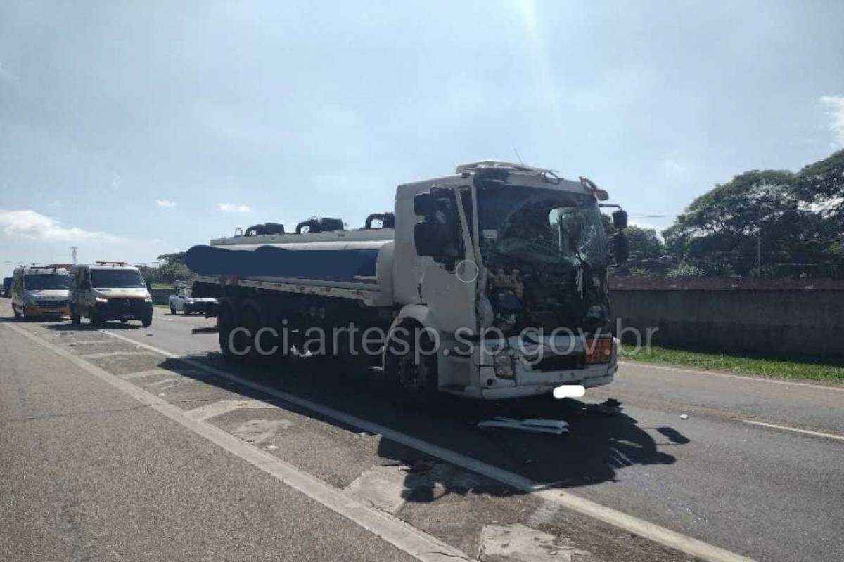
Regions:
<instances>
[{"instance_id":1,"label":"white and yellow van with roof lights, closest behind the tanker","mask_svg":"<svg viewBox=\"0 0 844 562\"><path fill-rule=\"evenodd\" d=\"M87 316L96 326L106 320L153 322L153 299L137 267L122 261L74 265L71 270L70 318Z\"/></svg>"}]
</instances>

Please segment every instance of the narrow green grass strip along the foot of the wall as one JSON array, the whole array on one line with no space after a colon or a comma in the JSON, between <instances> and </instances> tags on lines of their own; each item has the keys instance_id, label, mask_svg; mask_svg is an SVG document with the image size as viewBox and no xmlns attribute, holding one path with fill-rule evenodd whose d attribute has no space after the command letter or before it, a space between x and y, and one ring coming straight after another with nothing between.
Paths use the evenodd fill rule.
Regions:
<instances>
[{"instance_id":1,"label":"narrow green grass strip along the foot of the wall","mask_svg":"<svg viewBox=\"0 0 844 562\"><path fill-rule=\"evenodd\" d=\"M623 346L624 347L624 346ZM686 351L653 345L650 352L642 349L630 354L631 345L622 350L623 361L679 365L695 369L729 371L739 375L762 375L778 378L803 378L814 381L844 383L844 361L836 358L802 359L758 355L726 355L706 351Z\"/></svg>"}]
</instances>

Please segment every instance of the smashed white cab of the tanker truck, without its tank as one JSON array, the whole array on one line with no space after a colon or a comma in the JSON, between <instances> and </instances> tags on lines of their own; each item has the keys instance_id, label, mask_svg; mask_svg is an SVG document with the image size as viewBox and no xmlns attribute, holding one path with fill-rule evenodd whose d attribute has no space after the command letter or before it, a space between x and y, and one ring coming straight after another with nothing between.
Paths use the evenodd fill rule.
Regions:
<instances>
[{"instance_id":1,"label":"smashed white cab of the tanker truck, without its tank","mask_svg":"<svg viewBox=\"0 0 844 562\"><path fill-rule=\"evenodd\" d=\"M441 390L507 399L612 381L605 199L588 179L496 161L398 187L394 290L409 303L395 325L439 334Z\"/></svg>"}]
</instances>

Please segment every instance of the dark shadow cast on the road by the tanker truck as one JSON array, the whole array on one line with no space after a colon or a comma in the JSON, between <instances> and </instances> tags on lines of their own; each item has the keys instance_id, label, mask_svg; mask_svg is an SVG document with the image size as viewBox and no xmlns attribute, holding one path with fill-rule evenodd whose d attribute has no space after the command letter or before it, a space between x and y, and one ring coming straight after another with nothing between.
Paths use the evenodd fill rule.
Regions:
<instances>
[{"instance_id":1,"label":"dark shadow cast on the road by the tanker truck","mask_svg":"<svg viewBox=\"0 0 844 562\"><path fill-rule=\"evenodd\" d=\"M573 399L479 404L446 396L430 407L408 409L392 403L382 391L381 383L361 372L335 368L330 374L318 374L295 364L264 368L230 366L222 363L219 354L185 358L225 370L247 383L257 383L388 428L384 430L387 435L379 440L377 454L382 465L397 466L403 471L408 501L430 502L455 494L524 492L393 441L390 431L506 470L537 487L560 489L617 481L620 471L636 465L673 464L674 456L663 449L689 442L673 427L641 427L623 409L608 415L594 409L593 404ZM197 372L181 358L167 359L160 367L347 431L361 431L359 427L291 403L284 396L273 397L237 383L232 386L230 379ZM570 431L557 436L477 426L480 420L494 416L566 420Z\"/></svg>"}]
</instances>

